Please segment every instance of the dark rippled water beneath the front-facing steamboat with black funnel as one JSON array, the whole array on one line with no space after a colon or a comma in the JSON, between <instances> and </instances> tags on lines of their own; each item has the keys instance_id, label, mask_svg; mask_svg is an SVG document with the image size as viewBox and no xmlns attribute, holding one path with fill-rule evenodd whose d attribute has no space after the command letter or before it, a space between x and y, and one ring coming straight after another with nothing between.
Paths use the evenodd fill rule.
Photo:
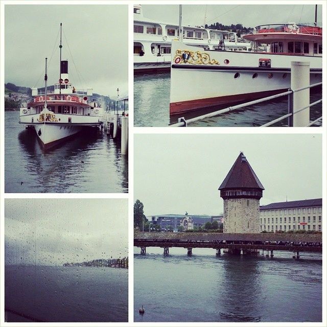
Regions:
<instances>
[{"instance_id":1,"label":"dark rippled water beneath the front-facing steamboat with black funnel","mask_svg":"<svg viewBox=\"0 0 327 327\"><path fill-rule=\"evenodd\" d=\"M6 193L128 192L128 158L120 141L96 130L43 153L35 133L18 121L19 112L6 111Z\"/></svg>"}]
</instances>

